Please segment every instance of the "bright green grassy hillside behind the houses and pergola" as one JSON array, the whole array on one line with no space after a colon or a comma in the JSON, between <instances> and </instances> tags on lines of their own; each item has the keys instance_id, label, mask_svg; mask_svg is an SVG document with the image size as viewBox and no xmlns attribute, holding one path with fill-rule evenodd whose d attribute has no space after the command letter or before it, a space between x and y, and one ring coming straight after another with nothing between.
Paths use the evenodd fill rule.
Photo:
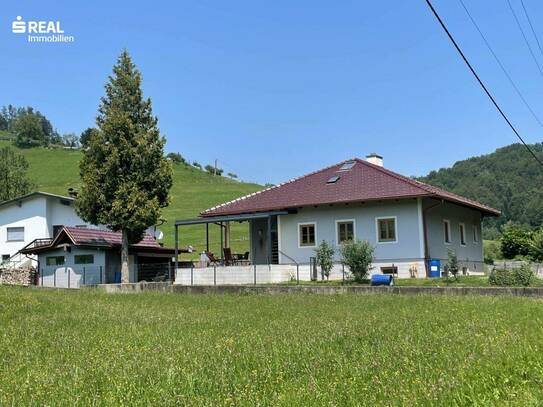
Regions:
<instances>
[{"instance_id":1,"label":"bright green grassy hillside behind the houses and pergola","mask_svg":"<svg viewBox=\"0 0 543 407\"><path fill-rule=\"evenodd\" d=\"M10 145L0 141L0 147ZM79 160L81 151L62 148L14 149L22 153L30 164L29 178L36 189L60 195L67 195L68 188L79 185ZM241 195L258 191L263 187L233 181L224 177L215 177L192 166L174 164L171 203L163 211L167 222L160 227L164 232L164 244L174 244L174 221L196 217L200 211L216 204L237 198ZM218 226L210 225L211 249L218 253L220 235ZM182 245L193 245L197 250L205 246L205 226L182 227L180 229ZM247 224L232 225L232 248L245 250L247 247Z\"/></svg>"}]
</instances>

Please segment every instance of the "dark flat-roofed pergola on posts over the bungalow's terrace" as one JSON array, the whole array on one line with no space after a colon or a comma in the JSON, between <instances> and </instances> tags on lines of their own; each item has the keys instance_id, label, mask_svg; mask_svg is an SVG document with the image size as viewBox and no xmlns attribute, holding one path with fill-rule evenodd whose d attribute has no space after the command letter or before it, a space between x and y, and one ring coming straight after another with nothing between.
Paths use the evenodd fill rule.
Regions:
<instances>
[{"instance_id":1,"label":"dark flat-roofed pergola on posts over the bungalow's terrace","mask_svg":"<svg viewBox=\"0 0 543 407\"><path fill-rule=\"evenodd\" d=\"M179 257L179 227L180 226L190 226L190 225L206 225L206 251L209 251L209 224L218 225L221 228L221 258L223 256L222 250L224 246L223 239L223 228L228 222L246 222L255 219L267 219L268 220L268 253L272 252L272 238L271 238L271 226L272 226L272 217L277 215L288 215L287 211L270 211L270 212L256 212L256 213L245 213L239 215L223 215L223 216L209 216L201 217L195 219L185 219L175 221L175 269L178 268L178 257Z\"/></svg>"}]
</instances>

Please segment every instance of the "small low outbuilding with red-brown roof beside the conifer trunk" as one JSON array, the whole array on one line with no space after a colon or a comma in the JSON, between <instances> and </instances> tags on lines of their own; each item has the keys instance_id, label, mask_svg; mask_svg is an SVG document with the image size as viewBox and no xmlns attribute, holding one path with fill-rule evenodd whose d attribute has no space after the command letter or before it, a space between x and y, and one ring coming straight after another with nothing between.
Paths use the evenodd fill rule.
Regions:
<instances>
[{"instance_id":1,"label":"small low outbuilding with red-brown roof beside the conifer trunk","mask_svg":"<svg viewBox=\"0 0 543 407\"><path fill-rule=\"evenodd\" d=\"M38 285L78 288L120 282L121 242L120 232L66 226L54 238L37 240L21 253L37 256ZM168 279L174 252L145 234L129 247L130 282Z\"/></svg>"}]
</instances>

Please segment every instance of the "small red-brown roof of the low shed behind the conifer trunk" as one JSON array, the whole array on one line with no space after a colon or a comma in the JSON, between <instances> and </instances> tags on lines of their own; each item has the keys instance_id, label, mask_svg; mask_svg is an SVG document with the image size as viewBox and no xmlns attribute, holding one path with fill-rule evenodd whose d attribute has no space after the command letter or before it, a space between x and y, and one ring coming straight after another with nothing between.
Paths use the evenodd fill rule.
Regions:
<instances>
[{"instance_id":1,"label":"small red-brown roof of the low shed behind the conifer trunk","mask_svg":"<svg viewBox=\"0 0 543 407\"><path fill-rule=\"evenodd\" d=\"M122 245L122 233L110 230L77 228L64 226L54 239L40 239L36 244L29 245L21 250L22 253L37 253L47 251L57 246L69 243L74 246L100 247L118 249ZM172 252L174 249L162 247L151 235L146 233L143 239L130 245L130 249L145 252ZM180 252L184 252L181 249Z\"/></svg>"}]
</instances>

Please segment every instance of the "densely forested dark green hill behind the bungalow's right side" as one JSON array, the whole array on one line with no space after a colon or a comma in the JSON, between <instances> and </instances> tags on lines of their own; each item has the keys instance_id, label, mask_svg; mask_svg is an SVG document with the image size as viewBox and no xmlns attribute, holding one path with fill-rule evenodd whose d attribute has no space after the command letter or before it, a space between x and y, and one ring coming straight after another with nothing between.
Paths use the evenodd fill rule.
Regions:
<instances>
[{"instance_id":1,"label":"densely forested dark green hill behind the bungalow's right side","mask_svg":"<svg viewBox=\"0 0 543 407\"><path fill-rule=\"evenodd\" d=\"M543 158L543 143L530 147ZM489 226L509 220L543 225L543 168L521 144L458 161L419 180L500 209L503 215L488 222Z\"/></svg>"}]
</instances>

